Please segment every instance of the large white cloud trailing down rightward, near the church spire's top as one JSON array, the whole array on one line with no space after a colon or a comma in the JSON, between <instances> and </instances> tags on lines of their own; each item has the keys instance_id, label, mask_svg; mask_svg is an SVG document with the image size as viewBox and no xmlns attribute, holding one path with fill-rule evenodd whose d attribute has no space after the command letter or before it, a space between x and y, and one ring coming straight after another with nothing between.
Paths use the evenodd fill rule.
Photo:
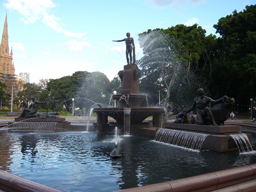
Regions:
<instances>
[{"instance_id":1,"label":"large white cloud trailing down rightward, near the church spire's top","mask_svg":"<svg viewBox=\"0 0 256 192\"><path fill-rule=\"evenodd\" d=\"M51 8L55 7L55 4L51 0L8 0L8 3L4 5L10 10L18 11L23 16L21 20L25 24L35 23L37 20L42 19L43 23L66 36L83 38L87 34L72 33L63 29L58 22L60 18L48 13Z\"/></svg>"}]
</instances>

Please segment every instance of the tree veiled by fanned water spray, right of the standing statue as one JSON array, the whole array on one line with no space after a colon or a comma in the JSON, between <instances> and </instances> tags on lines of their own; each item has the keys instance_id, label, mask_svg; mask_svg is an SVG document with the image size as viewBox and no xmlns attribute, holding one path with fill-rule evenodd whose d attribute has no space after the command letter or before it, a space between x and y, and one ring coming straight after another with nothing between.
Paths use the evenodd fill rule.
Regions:
<instances>
[{"instance_id":1,"label":"tree veiled by fanned water spray, right of the standing statue","mask_svg":"<svg viewBox=\"0 0 256 192\"><path fill-rule=\"evenodd\" d=\"M138 62L138 66L142 68L142 74L154 73L154 80L165 85L165 98L168 100L184 61L180 54L180 41L161 30L148 30L139 34L139 41L145 56Z\"/></svg>"}]
</instances>

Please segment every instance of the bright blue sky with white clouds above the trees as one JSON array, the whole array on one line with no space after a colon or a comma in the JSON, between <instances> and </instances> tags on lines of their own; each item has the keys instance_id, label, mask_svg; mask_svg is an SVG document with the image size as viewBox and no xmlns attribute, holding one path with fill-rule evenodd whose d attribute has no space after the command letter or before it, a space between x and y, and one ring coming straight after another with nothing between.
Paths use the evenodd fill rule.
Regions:
<instances>
[{"instance_id":1,"label":"bright blue sky with white clouds above the trees","mask_svg":"<svg viewBox=\"0 0 256 192\"><path fill-rule=\"evenodd\" d=\"M197 23L215 34L221 17L251 4L256 0L1 0L0 31L7 12L15 74L30 73L30 83L75 71L100 71L111 81L126 65L125 42L112 40L130 32L140 59L139 33Z\"/></svg>"}]
</instances>

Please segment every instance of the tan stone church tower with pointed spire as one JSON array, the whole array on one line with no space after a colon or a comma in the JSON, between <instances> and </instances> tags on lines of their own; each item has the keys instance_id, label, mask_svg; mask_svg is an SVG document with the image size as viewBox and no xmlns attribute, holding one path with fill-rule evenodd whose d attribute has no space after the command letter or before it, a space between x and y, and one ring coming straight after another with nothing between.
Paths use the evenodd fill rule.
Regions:
<instances>
[{"instance_id":1,"label":"tan stone church tower with pointed spire","mask_svg":"<svg viewBox=\"0 0 256 192\"><path fill-rule=\"evenodd\" d=\"M8 28L7 28L7 13L4 21L4 31L0 45L0 79L3 81L4 76L14 77L14 63L12 61L12 49L9 52L8 44ZM12 76L13 75L13 76Z\"/></svg>"}]
</instances>

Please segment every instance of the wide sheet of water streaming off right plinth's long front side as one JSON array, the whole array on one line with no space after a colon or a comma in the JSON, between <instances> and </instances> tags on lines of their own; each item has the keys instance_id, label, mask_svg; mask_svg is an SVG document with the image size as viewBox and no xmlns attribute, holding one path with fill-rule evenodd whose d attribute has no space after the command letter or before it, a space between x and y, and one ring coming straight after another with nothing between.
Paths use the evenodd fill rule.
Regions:
<instances>
[{"instance_id":1,"label":"wide sheet of water streaming off right plinth's long front side","mask_svg":"<svg viewBox=\"0 0 256 192\"><path fill-rule=\"evenodd\" d=\"M208 135L205 133L160 128L156 132L155 140L199 150Z\"/></svg>"}]
</instances>

